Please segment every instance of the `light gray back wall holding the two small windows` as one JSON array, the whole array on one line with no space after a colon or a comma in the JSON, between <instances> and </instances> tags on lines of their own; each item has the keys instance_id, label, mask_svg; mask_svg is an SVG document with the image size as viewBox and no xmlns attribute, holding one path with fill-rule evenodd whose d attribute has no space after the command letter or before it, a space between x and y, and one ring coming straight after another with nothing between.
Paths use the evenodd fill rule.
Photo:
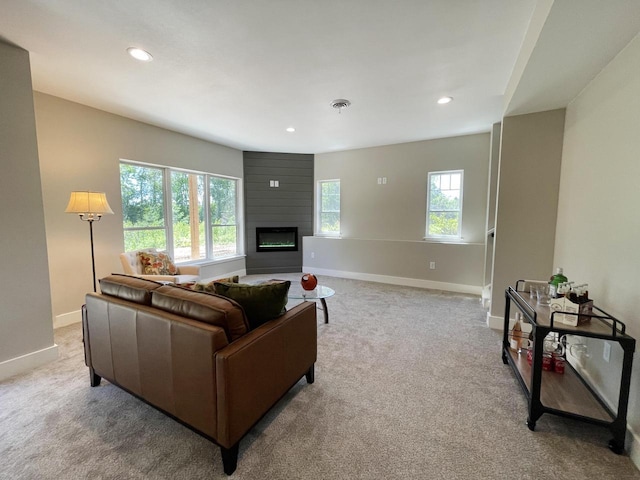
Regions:
<instances>
[{"instance_id":1,"label":"light gray back wall holding the two small windows","mask_svg":"<svg viewBox=\"0 0 640 480\"><path fill-rule=\"evenodd\" d=\"M305 239L305 269L479 294L488 168L488 133L317 154L315 181L340 179L342 238ZM464 170L462 241L424 240L427 175L457 169Z\"/></svg>"}]
</instances>

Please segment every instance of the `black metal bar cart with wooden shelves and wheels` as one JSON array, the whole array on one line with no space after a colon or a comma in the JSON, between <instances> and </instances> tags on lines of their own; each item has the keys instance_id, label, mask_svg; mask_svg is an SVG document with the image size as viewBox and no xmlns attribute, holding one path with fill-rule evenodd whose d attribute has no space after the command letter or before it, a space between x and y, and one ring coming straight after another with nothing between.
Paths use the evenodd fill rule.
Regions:
<instances>
[{"instance_id":1,"label":"black metal bar cart with wooden shelves and wheels","mask_svg":"<svg viewBox=\"0 0 640 480\"><path fill-rule=\"evenodd\" d=\"M627 430L627 407L635 339L626 334L624 323L596 306L593 307L593 313L587 315L590 320L585 323L576 327L561 323L556 317L563 312L550 312L548 306L537 305L528 292L522 291L524 285L525 280L518 280L515 289L508 287L505 290L502 361L511 366L527 398L527 426L533 431L536 422L544 413L601 425L613 434L609 448L617 454L622 454ZM509 348L509 318L512 304L522 313L523 319L532 328L531 365L527 362L526 355L518 354ZM569 362L566 362L564 374L542 369L544 339L551 332L557 332L560 336L577 335L620 344L624 357L616 412L606 405L601 396L589 386Z\"/></svg>"}]
</instances>

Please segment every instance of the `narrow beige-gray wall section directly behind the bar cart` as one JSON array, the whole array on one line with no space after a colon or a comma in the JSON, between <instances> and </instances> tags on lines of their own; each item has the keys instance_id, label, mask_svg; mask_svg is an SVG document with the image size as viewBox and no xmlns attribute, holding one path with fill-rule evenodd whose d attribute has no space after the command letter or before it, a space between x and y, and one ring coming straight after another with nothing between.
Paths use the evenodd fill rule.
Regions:
<instances>
[{"instance_id":1,"label":"narrow beige-gray wall section directly behind the bar cart","mask_svg":"<svg viewBox=\"0 0 640 480\"><path fill-rule=\"evenodd\" d=\"M502 121L491 326L504 318L504 290L553 273L564 109Z\"/></svg>"}]
</instances>

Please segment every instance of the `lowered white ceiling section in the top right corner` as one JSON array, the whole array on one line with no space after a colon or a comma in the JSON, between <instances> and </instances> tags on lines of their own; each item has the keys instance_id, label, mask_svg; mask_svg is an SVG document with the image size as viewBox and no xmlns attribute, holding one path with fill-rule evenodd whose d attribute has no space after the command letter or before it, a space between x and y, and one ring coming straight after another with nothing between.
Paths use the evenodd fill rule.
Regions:
<instances>
[{"instance_id":1,"label":"lowered white ceiling section in the top right corner","mask_svg":"<svg viewBox=\"0 0 640 480\"><path fill-rule=\"evenodd\" d=\"M507 87L505 115L566 107L638 31L638 0L541 0Z\"/></svg>"}]
</instances>

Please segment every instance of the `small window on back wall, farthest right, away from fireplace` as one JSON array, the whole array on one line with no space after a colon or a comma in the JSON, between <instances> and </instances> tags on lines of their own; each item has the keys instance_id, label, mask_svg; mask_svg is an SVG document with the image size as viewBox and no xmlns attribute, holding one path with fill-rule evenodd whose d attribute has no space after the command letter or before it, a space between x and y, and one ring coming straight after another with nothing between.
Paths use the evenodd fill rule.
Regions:
<instances>
[{"instance_id":1,"label":"small window on back wall, farthest right, away from fireplace","mask_svg":"<svg viewBox=\"0 0 640 480\"><path fill-rule=\"evenodd\" d=\"M427 237L460 238L463 171L430 172L427 182Z\"/></svg>"}]
</instances>

